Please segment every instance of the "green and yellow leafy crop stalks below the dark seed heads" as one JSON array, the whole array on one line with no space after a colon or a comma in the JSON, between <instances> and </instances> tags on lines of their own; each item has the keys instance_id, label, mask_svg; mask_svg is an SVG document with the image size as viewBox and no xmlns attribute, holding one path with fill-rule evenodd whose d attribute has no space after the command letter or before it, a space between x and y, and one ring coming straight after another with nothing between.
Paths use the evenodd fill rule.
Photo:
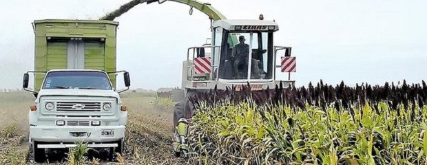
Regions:
<instances>
[{"instance_id":1,"label":"green and yellow leafy crop stalks below the dark seed heads","mask_svg":"<svg viewBox=\"0 0 427 165\"><path fill-rule=\"evenodd\" d=\"M201 101L192 159L212 164L426 164L427 107L413 102ZM414 114L415 113L415 114Z\"/></svg>"}]
</instances>

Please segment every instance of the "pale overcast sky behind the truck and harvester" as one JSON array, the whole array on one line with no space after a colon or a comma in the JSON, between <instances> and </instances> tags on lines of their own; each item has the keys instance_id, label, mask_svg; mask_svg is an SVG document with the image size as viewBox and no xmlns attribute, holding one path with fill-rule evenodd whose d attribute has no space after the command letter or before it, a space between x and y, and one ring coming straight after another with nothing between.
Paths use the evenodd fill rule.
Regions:
<instances>
[{"instance_id":1,"label":"pale overcast sky behind the truck and harvester","mask_svg":"<svg viewBox=\"0 0 427 165\"><path fill-rule=\"evenodd\" d=\"M4 1L4 0L2 0ZM205 0L206 1L206 0ZM14 0L0 5L0 89L34 69L37 19L98 19L126 0ZM211 0L227 19L275 19L275 45L293 47L297 85L427 80L427 1ZM132 88L180 86L187 48L211 37L209 19L175 2L141 4L118 17L117 68ZM279 78L287 78L281 75ZM119 80L120 85L122 80Z\"/></svg>"}]
</instances>

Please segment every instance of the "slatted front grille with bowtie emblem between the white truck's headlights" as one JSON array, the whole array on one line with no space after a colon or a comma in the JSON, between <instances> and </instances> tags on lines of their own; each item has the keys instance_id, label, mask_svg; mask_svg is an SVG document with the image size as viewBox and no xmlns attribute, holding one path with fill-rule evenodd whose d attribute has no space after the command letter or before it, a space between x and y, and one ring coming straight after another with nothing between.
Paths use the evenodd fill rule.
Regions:
<instances>
[{"instance_id":1,"label":"slatted front grille with bowtie emblem between the white truck's headlights","mask_svg":"<svg viewBox=\"0 0 427 165\"><path fill-rule=\"evenodd\" d=\"M101 102L56 102L56 111L101 111Z\"/></svg>"}]
</instances>

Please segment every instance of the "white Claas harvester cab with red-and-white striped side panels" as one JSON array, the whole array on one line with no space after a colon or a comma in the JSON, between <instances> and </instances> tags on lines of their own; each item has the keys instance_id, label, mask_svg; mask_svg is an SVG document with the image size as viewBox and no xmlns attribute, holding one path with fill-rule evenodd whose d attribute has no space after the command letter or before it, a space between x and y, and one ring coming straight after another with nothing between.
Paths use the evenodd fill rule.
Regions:
<instances>
[{"instance_id":1,"label":"white Claas harvester cab with red-and-white striped side panels","mask_svg":"<svg viewBox=\"0 0 427 165\"><path fill-rule=\"evenodd\" d=\"M280 83L294 85L290 72L295 72L295 57L291 47L273 45L273 34L279 30L275 21L225 19L213 21L211 28L211 44L187 50L183 89L239 90L249 83L252 90L260 90ZM288 80L276 80L278 67L289 72Z\"/></svg>"}]
</instances>

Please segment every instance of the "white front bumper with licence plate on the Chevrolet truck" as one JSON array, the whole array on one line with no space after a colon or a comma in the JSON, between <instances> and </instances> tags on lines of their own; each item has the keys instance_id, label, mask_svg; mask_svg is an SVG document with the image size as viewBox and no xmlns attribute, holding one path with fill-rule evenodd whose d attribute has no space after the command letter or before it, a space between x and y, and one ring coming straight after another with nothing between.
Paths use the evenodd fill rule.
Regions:
<instances>
[{"instance_id":1,"label":"white front bumper with licence plate on the Chevrolet truck","mask_svg":"<svg viewBox=\"0 0 427 165\"><path fill-rule=\"evenodd\" d=\"M30 126L30 140L45 144L117 142L125 137L125 126ZM68 146L64 146L68 147ZM92 145L97 147L97 145ZM110 147L98 145L98 147Z\"/></svg>"}]
</instances>

